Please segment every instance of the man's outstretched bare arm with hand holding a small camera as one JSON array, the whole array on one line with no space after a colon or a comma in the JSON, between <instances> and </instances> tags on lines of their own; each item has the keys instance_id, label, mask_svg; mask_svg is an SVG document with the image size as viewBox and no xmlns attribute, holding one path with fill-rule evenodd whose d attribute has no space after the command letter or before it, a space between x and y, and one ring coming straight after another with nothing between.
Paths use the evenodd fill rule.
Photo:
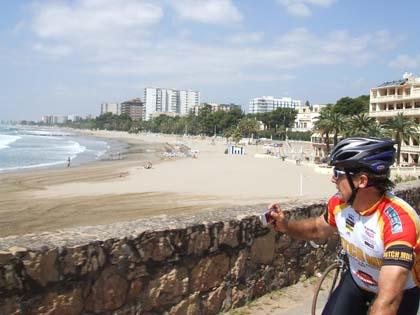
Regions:
<instances>
[{"instance_id":1,"label":"man's outstretched bare arm with hand holding a small camera","mask_svg":"<svg viewBox=\"0 0 420 315\"><path fill-rule=\"evenodd\" d=\"M326 239L336 231L336 228L325 222L324 216L289 221L278 204L271 204L268 208L272 210L271 217L273 218L274 229L278 232L287 233L294 238L304 240Z\"/></svg>"}]
</instances>

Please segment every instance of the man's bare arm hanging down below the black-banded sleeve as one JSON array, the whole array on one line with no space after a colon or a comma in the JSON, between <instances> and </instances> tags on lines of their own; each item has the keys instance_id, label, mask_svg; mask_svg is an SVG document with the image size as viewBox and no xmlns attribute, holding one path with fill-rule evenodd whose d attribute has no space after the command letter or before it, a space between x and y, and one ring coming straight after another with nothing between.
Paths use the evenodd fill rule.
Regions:
<instances>
[{"instance_id":1,"label":"man's bare arm hanging down below the black-banded sleeve","mask_svg":"<svg viewBox=\"0 0 420 315\"><path fill-rule=\"evenodd\" d=\"M409 269L401 266L382 266L379 272L378 295L369 315L397 314L409 272Z\"/></svg>"}]
</instances>

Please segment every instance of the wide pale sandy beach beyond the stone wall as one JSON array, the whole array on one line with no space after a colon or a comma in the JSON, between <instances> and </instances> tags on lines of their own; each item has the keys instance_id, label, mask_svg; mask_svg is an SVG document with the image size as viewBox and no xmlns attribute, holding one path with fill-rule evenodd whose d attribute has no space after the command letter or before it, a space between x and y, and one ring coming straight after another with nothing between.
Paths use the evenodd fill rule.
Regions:
<instances>
[{"instance_id":1,"label":"wide pale sandy beach beyond the stone wall","mask_svg":"<svg viewBox=\"0 0 420 315\"><path fill-rule=\"evenodd\" d=\"M108 224L159 214L211 211L334 193L329 174L293 161L225 155L224 139L122 132L82 132L128 143L121 160L66 169L0 174L0 237ZM198 158L163 157L198 150ZM152 162L145 169L146 161Z\"/></svg>"}]
</instances>

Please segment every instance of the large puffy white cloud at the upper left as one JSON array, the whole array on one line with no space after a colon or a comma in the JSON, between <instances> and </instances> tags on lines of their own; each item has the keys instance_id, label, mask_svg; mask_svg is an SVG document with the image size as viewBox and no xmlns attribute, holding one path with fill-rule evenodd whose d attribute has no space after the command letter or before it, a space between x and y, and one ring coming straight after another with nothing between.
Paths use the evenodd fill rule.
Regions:
<instances>
[{"instance_id":1,"label":"large puffy white cloud at the upper left","mask_svg":"<svg viewBox=\"0 0 420 315\"><path fill-rule=\"evenodd\" d=\"M31 26L44 41L66 42L77 48L106 48L128 42L132 37L127 34L141 37L162 15L162 8L151 1L37 2L33 5Z\"/></svg>"}]
</instances>

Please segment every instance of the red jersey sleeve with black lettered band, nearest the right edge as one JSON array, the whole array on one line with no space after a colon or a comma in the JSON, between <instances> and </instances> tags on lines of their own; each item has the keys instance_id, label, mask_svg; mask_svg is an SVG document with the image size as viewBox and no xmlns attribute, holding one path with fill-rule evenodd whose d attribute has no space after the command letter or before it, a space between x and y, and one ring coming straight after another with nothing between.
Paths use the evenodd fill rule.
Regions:
<instances>
[{"instance_id":1,"label":"red jersey sleeve with black lettered band, nearest the right edge","mask_svg":"<svg viewBox=\"0 0 420 315\"><path fill-rule=\"evenodd\" d=\"M411 269L414 248L418 240L418 222L413 209L391 204L382 212L384 265L398 265Z\"/></svg>"}]
</instances>

